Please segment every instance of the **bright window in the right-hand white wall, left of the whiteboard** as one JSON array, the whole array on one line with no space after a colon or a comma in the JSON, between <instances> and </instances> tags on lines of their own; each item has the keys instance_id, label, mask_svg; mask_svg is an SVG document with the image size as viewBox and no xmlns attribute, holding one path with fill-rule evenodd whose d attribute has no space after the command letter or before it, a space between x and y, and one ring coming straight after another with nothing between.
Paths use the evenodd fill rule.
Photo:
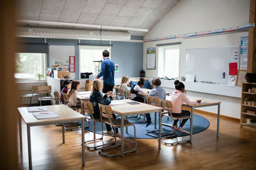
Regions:
<instances>
[{"instance_id":1,"label":"bright window in the right-hand white wall, left of the whiteboard","mask_svg":"<svg viewBox=\"0 0 256 170\"><path fill-rule=\"evenodd\" d=\"M158 76L179 77L180 49L179 46L159 48Z\"/></svg>"}]
</instances>

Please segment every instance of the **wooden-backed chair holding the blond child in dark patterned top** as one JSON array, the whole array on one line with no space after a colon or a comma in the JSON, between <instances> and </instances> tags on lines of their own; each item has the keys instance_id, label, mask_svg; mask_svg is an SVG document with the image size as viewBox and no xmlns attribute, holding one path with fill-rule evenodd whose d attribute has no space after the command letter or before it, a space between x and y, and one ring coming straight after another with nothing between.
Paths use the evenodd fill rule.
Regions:
<instances>
[{"instance_id":1,"label":"wooden-backed chair holding the blond child in dark patterned top","mask_svg":"<svg viewBox=\"0 0 256 170\"><path fill-rule=\"evenodd\" d=\"M96 139L96 132L95 132L95 122L100 122L100 118L94 118L94 110L93 110L93 105L91 102L88 101L81 101L81 107L82 107L82 114L86 115L88 114L89 116L86 116L85 118L87 120L93 121L93 139L92 140L88 140L88 141L84 141L85 143L88 144L92 144L92 143L96 143L97 141L103 140L103 126L101 124L101 131L102 131L102 135L100 138ZM102 141L103 142L103 141ZM102 144L102 145L97 145L97 146L89 146L89 145L84 145L86 146L86 148L90 149L99 149L102 148L102 146L106 146L106 145L113 145L115 143L106 143L106 144Z\"/></svg>"}]
</instances>

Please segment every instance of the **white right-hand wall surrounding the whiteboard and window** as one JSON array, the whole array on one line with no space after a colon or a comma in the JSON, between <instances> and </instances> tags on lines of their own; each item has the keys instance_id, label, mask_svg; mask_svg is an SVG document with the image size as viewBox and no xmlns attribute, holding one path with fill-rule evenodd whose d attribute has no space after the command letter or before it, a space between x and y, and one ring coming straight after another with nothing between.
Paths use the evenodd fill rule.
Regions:
<instances>
[{"instance_id":1,"label":"white right-hand wall surrounding the whiteboard and window","mask_svg":"<svg viewBox=\"0 0 256 170\"><path fill-rule=\"evenodd\" d=\"M187 34L189 32L210 31L245 25L249 22L249 8L249 0L181 0L144 36L144 39L163 38L166 36ZM186 49L237 46L240 45L240 38L242 36L248 36L248 32L236 32L188 39L177 38L144 43L143 69L145 70L147 77L157 77L157 69L145 69L148 47L154 47L156 44L162 43L182 42L180 45L180 76L185 76ZM157 61L158 55L156 56L156 66L158 67ZM170 90L171 92L174 90L170 86L167 86L166 88L166 90ZM221 115L240 118L241 99L239 97L227 97L192 91L188 92L188 96L205 97L205 99L221 101ZM216 113L216 109L213 107L204 110Z\"/></svg>"}]
</instances>

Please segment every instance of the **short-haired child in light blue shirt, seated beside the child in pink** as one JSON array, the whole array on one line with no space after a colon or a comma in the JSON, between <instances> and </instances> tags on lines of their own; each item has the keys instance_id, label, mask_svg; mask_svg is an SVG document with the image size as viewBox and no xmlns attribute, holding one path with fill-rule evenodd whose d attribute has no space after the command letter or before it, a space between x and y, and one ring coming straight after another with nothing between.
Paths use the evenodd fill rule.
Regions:
<instances>
[{"instance_id":1,"label":"short-haired child in light blue shirt, seated beside the child in pink","mask_svg":"<svg viewBox=\"0 0 256 170\"><path fill-rule=\"evenodd\" d=\"M156 97L159 97L159 99L165 99L166 98L166 91L163 89L163 87L160 87L161 85L161 80L159 78L154 78L152 80L152 85L153 85L153 88L150 93L148 94L148 96L156 96ZM146 114L146 117L147 117L147 124L145 127L148 127L148 125L151 124L151 117L150 117L150 114L147 113ZM150 122L148 124L148 122Z\"/></svg>"}]
</instances>

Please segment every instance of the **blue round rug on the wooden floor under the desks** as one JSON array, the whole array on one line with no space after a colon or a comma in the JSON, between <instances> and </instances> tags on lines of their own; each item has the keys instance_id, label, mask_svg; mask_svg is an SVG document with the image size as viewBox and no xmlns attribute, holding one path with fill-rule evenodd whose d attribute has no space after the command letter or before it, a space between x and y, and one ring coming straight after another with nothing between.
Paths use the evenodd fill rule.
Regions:
<instances>
[{"instance_id":1,"label":"blue round rug on the wooden floor under the desks","mask_svg":"<svg viewBox=\"0 0 256 170\"><path fill-rule=\"evenodd\" d=\"M145 132L147 132L147 131L156 130L156 129L154 129L154 122L155 122L154 113L150 113L150 116L151 116L152 124L150 124L148 127L145 127L145 124L143 123L143 117L142 116L141 116L140 119L129 119L128 118L129 122L134 123L134 125L136 127L136 138L137 139L154 139L154 137L148 136L148 135L145 134ZM157 121L156 128L158 129L158 114L157 114L157 120L156 121ZM173 120L172 120L172 118L169 118L169 120L167 120L167 117L163 117L162 118L162 123L172 125ZM180 121L178 122L178 127L179 127L179 123L180 123ZM96 124L95 124L95 130L96 130L97 134L101 134L100 124L101 124L100 122L96 122ZM210 125L210 122L206 118L201 117L200 115L194 114L194 117L193 117L193 134L205 131L205 129L207 129L209 127L209 125ZM88 123L85 123L85 127L86 126L88 126ZM104 128L103 131L106 131L106 125L103 125L103 128ZM183 126L183 129L188 131L188 132L190 131L190 121L189 120ZM93 122L92 121L90 122L90 127L87 128L87 130L90 131L90 132L93 132ZM172 132L172 131L173 130L170 127L166 127L166 126L162 125L162 134ZM120 132L120 128L118 128L118 132ZM157 135L158 131L155 132L154 134ZM184 133L178 131L178 137L187 136L187 135L188 134L184 134ZM134 138L134 132L133 132L133 127L132 126L128 127L128 133L125 132L125 128L124 128L124 137L125 138Z\"/></svg>"}]
</instances>

